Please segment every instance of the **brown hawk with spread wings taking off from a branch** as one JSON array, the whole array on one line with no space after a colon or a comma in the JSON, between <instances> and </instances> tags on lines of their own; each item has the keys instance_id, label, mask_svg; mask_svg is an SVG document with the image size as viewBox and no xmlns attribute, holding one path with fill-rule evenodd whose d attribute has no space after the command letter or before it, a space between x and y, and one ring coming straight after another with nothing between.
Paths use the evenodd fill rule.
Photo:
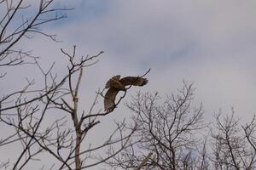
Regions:
<instances>
[{"instance_id":1,"label":"brown hawk with spread wings taking off from a branch","mask_svg":"<svg viewBox=\"0 0 256 170\"><path fill-rule=\"evenodd\" d=\"M125 86L144 86L148 80L143 77L124 77L114 76L108 80L105 88L109 88L104 97L105 111L112 111L115 107L114 99L119 91L126 91Z\"/></svg>"}]
</instances>

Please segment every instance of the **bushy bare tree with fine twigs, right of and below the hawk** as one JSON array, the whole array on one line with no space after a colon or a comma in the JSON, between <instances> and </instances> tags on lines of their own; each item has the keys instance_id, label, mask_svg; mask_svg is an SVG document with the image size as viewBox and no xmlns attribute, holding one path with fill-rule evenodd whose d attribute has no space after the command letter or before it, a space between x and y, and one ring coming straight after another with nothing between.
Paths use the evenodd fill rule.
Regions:
<instances>
[{"instance_id":1,"label":"bushy bare tree with fine twigs, right of and below the hawk","mask_svg":"<svg viewBox=\"0 0 256 170\"><path fill-rule=\"evenodd\" d=\"M192 84L185 82L177 95L166 97L161 105L159 94L138 93L128 104L137 114L134 117L137 131L133 139L137 143L108 161L110 167L134 169L151 152L153 155L144 163L143 169L195 169L195 156L201 153L197 149L200 137L197 133L205 124L202 106L191 105L193 97Z\"/></svg>"}]
</instances>

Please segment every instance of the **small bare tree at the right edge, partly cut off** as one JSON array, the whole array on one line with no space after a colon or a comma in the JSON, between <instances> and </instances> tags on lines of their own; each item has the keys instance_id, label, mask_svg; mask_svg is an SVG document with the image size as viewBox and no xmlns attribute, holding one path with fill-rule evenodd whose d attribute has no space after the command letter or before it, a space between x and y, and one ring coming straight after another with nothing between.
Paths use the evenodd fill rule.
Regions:
<instances>
[{"instance_id":1,"label":"small bare tree at the right edge, partly cut off","mask_svg":"<svg viewBox=\"0 0 256 170\"><path fill-rule=\"evenodd\" d=\"M254 169L253 149L254 118L250 124L241 126L234 116L216 116L212 132L212 167L215 169ZM243 130L242 130L243 129Z\"/></svg>"}]
</instances>

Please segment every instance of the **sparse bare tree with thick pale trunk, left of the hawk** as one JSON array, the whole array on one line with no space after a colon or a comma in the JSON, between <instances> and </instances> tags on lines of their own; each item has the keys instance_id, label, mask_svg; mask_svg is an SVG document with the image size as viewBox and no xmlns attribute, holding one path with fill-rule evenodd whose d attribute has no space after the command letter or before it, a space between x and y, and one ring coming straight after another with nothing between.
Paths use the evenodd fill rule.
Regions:
<instances>
[{"instance_id":1,"label":"sparse bare tree with thick pale trunk, left of the hawk","mask_svg":"<svg viewBox=\"0 0 256 170\"><path fill-rule=\"evenodd\" d=\"M3 105L1 109L1 122L14 127L16 130L15 133L17 134L16 138L18 138L18 142L21 142L23 145L23 149L20 156L18 156L15 161L13 169L25 167L29 161L33 161L35 156L44 152L49 153L49 156L59 161L59 167L52 168L84 169L86 167L96 166L108 160L110 156L102 160L102 156L101 158L96 158L96 156L93 155L94 151L101 150L108 145L116 143L122 143L119 148L119 150L122 150L128 144L126 140L129 139L131 133L133 133L133 130L127 135L123 133L122 127L125 124L124 122L117 126L117 129L108 139L102 139L101 145L95 147L90 147L89 145L88 148L82 147L83 141L86 139L90 129L100 123L97 120L98 116L105 116L111 112L101 112L100 110L93 113L95 102L100 92L96 95L95 102L91 106L90 112L79 112L78 110L79 85L83 68L95 64L96 61L94 61L94 59L98 58L102 52L95 56L81 58L79 62L74 61L74 52L73 55L70 55L62 50L62 53L68 56L71 64L68 67L66 77L63 77L57 82L57 77L54 77L50 71L53 67L51 67L49 71L44 71L40 65L38 65L45 80L44 88L37 91L40 99L26 101L25 94L29 93L27 90L32 86L32 83L30 83L23 92L15 96L14 106L4 107ZM87 64L90 60L92 60L92 63ZM75 73L78 73L79 76L74 83L73 75ZM68 98L68 96L70 96L70 98ZM9 98L3 99L2 103L7 99ZM43 124L49 122L49 117L47 117L48 112L52 113L55 112L55 110L63 111L66 115L50 122L48 126L44 127ZM15 111L15 114L9 114L6 113L6 111ZM69 125L69 120L72 120L73 125ZM116 138L117 133L122 135ZM17 139L14 139L14 141L16 140ZM7 143L3 142L3 144ZM116 152L119 152L119 150L116 150Z\"/></svg>"}]
</instances>

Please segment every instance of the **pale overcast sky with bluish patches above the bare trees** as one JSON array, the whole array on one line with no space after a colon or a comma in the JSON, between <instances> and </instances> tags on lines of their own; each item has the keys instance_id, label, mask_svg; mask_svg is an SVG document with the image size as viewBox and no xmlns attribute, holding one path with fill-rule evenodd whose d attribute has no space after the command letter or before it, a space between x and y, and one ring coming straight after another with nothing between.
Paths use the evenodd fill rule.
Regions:
<instances>
[{"instance_id":1,"label":"pale overcast sky with bluish patches above the bare trees","mask_svg":"<svg viewBox=\"0 0 256 170\"><path fill-rule=\"evenodd\" d=\"M63 42L36 36L20 47L33 49L45 68L56 61L59 74L67 69L60 48L77 45L80 55L105 51L84 72L85 103L109 77L151 68L148 85L130 94L141 89L165 96L185 80L195 83L195 101L202 102L207 120L219 109L230 114L231 107L245 121L256 113L256 1L58 0L55 6L75 8L45 27ZM19 74L21 81L36 73L29 67ZM112 115L125 113L117 109Z\"/></svg>"}]
</instances>

